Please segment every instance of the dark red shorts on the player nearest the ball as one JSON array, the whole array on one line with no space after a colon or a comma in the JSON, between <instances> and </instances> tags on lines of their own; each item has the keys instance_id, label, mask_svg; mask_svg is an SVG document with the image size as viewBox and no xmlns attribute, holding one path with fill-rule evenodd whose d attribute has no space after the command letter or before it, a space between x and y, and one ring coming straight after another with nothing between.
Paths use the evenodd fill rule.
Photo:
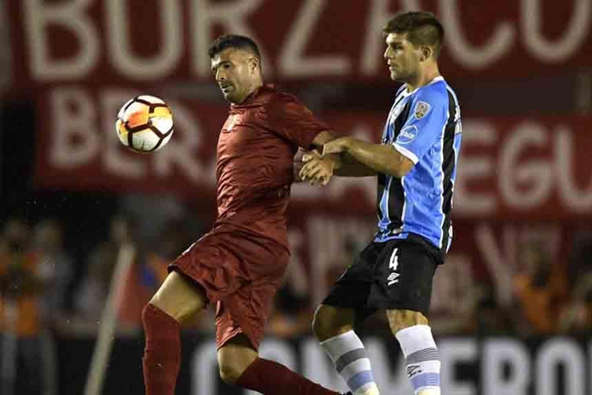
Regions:
<instances>
[{"instance_id":1,"label":"dark red shorts on the player nearest the ball","mask_svg":"<svg viewBox=\"0 0 592 395\"><path fill-rule=\"evenodd\" d=\"M216 345L244 334L259 348L275 292L289 260L275 241L236 229L216 228L170 264L200 284L216 305Z\"/></svg>"}]
</instances>

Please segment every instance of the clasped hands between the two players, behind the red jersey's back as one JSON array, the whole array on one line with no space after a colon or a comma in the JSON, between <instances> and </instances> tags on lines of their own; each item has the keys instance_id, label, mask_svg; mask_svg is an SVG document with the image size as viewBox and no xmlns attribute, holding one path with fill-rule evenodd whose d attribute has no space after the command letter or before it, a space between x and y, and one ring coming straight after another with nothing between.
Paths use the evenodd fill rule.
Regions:
<instances>
[{"instance_id":1,"label":"clasped hands between the two players, behind the red jersey's back","mask_svg":"<svg viewBox=\"0 0 592 395\"><path fill-rule=\"evenodd\" d=\"M302 162L304 166L298 173L298 178L311 185L326 186L333 176L333 171L339 169L341 161L339 154L348 149L349 137L340 137L323 144L323 153L305 151Z\"/></svg>"}]
</instances>

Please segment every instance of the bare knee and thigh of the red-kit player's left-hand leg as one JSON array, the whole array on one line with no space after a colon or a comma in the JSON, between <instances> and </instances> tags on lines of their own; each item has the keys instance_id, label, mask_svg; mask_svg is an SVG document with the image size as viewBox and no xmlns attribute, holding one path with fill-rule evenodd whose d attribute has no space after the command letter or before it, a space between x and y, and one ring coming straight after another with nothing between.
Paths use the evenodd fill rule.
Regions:
<instances>
[{"instance_id":1,"label":"bare knee and thigh of the red-kit player's left-hand leg","mask_svg":"<svg viewBox=\"0 0 592 395\"><path fill-rule=\"evenodd\" d=\"M207 306L205 294L176 271L171 271L150 300L150 304L182 322Z\"/></svg>"}]
</instances>

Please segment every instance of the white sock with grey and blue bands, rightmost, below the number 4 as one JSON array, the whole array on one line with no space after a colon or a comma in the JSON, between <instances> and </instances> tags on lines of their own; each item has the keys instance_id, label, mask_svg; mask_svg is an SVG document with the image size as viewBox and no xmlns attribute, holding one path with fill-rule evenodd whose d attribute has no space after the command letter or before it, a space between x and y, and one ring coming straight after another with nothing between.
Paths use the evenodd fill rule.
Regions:
<instances>
[{"instance_id":1,"label":"white sock with grey and blue bands, rightmost, below the number 4","mask_svg":"<svg viewBox=\"0 0 592 395\"><path fill-rule=\"evenodd\" d=\"M440 359L432 329L414 325L395 334L416 395L440 395Z\"/></svg>"}]
</instances>

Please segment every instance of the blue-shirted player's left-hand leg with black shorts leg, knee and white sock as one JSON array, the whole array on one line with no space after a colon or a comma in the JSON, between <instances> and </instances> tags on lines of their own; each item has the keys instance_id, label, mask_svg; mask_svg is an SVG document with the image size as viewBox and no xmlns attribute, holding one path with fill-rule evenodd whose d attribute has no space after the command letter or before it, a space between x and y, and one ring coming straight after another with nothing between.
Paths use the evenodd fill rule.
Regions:
<instances>
[{"instance_id":1,"label":"blue-shirted player's left-hand leg with black shorts leg, knee and white sock","mask_svg":"<svg viewBox=\"0 0 592 395\"><path fill-rule=\"evenodd\" d=\"M370 359L353 327L369 313L363 307L372 279L370 268L381 250L375 243L366 247L314 313L314 335L354 395L379 394Z\"/></svg>"}]
</instances>

